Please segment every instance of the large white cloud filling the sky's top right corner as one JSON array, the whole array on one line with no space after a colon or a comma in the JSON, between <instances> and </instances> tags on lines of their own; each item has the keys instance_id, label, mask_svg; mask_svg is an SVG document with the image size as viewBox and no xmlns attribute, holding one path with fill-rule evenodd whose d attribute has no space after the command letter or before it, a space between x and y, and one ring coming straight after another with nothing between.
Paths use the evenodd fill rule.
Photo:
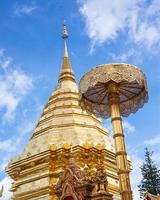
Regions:
<instances>
[{"instance_id":1,"label":"large white cloud filling the sky's top right corner","mask_svg":"<svg viewBox=\"0 0 160 200\"><path fill-rule=\"evenodd\" d=\"M91 39L91 52L95 45L117 39L127 33L129 41L151 48L160 42L160 0L83 0L80 13Z\"/></svg>"}]
</instances>

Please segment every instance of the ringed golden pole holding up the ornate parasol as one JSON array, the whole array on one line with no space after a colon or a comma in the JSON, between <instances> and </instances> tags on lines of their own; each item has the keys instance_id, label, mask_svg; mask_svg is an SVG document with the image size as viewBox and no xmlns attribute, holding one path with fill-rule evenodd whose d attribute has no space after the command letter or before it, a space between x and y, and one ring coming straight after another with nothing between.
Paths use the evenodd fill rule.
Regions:
<instances>
[{"instance_id":1,"label":"ringed golden pole holding up the ornate parasol","mask_svg":"<svg viewBox=\"0 0 160 200\"><path fill-rule=\"evenodd\" d=\"M120 114L119 106L119 94L117 92L118 85L115 82L111 82L109 85L109 104L111 110L111 120L114 132L114 141L116 148L116 161L118 167L120 193L122 200L132 200L132 191L129 178L129 169L127 161L127 153L125 148L122 118Z\"/></svg>"}]
</instances>

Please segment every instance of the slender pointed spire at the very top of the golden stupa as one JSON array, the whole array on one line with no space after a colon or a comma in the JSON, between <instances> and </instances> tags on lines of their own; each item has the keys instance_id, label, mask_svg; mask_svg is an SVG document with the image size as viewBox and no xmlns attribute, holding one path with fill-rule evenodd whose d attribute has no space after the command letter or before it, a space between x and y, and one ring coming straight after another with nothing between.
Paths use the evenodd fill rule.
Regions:
<instances>
[{"instance_id":1,"label":"slender pointed spire at the very top of the golden stupa","mask_svg":"<svg viewBox=\"0 0 160 200\"><path fill-rule=\"evenodd\" d=\"M68 56L68 50L67 50L68 31L67 31L67 27L65 23L63 24L62 38L64 40L64 56L63 56L62 68L61 68L61 72L60 72L59 80L58 80L59 83L65 80L75 81L75 77L74 77L71 64L70 64L70 59Z\"/></svg>"}]
</instances>

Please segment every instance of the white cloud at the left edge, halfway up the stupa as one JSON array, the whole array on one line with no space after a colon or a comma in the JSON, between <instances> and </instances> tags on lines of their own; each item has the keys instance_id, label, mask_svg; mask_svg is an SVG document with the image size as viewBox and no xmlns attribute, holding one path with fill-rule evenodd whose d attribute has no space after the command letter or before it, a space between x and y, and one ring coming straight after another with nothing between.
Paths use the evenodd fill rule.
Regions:
<instances>
[{"instance_id":1,"label":"white cloud at the left edge, halfway up the stupa","mask_svg":"<svg viewBox=\"0 0 160 200\"><path fill-rule=\"evenodd\" d=\"M14 118L17 106L33 88L33 80L20 69L10 69L11 59L0 57L3 73L0 74L0 109L5 109L3 122Z\"/></svg>"}]
</instances>

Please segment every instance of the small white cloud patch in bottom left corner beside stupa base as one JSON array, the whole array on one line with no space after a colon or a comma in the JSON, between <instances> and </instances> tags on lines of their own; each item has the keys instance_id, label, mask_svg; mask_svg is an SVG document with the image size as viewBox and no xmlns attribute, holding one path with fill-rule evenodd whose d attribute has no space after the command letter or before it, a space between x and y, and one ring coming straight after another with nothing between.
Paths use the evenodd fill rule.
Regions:
<instances>
[{"instance_id":1,"label":"small white cloud patch in bottom left corner beside stupa base","mask_svg":"<svg viewBox=\"0 0 160 200\"><path fill-rule=\"evenodd\" d=\"M9 191L11 188L12 180L6 176L0 181L0 189L3 186L3 196L1 197L1 200L9 200L11 198L12 193Z\"/></svg>"}]
</instances>

